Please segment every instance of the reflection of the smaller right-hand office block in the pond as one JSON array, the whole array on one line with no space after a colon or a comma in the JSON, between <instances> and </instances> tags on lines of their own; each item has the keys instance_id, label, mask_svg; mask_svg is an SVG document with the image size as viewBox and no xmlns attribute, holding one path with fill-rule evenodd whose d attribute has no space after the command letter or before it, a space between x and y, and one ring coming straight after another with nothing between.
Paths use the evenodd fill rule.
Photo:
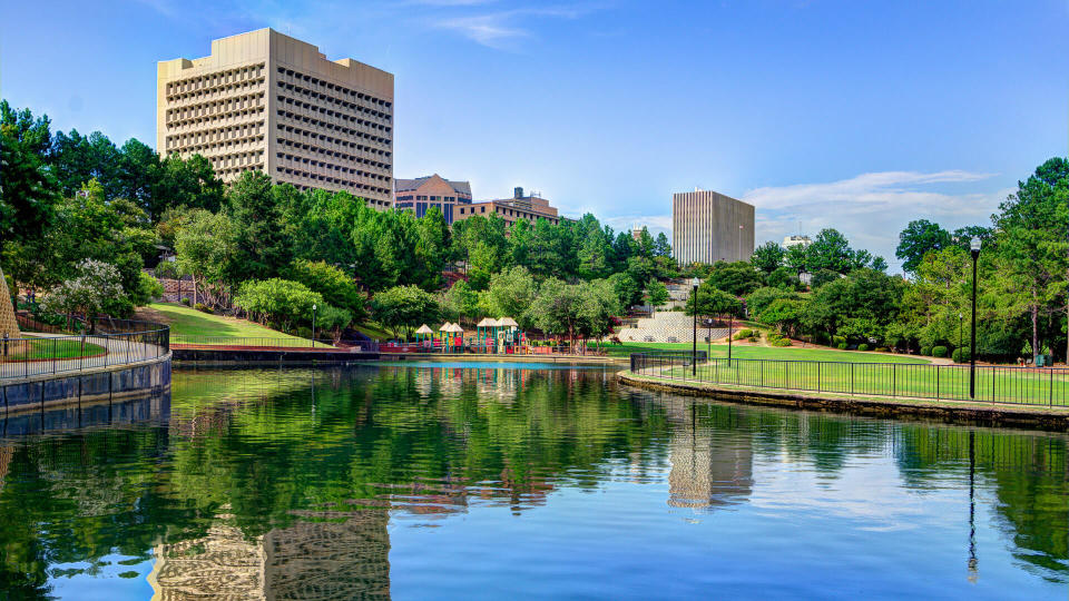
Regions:
<instances>
[{"instance_id":1,"label":"reflection of the smaller right-hand office block in the pond","mask_svg":"<svg viewBox=\"0 0 1069 601\"><path fill-rule=\"evenodd\" d=\"M717 428L713 407L686 400L667 401L673 424L668 504L709 510L744 502L753 491L753 441L747 432Z\"/></svg>"}]
</instances>

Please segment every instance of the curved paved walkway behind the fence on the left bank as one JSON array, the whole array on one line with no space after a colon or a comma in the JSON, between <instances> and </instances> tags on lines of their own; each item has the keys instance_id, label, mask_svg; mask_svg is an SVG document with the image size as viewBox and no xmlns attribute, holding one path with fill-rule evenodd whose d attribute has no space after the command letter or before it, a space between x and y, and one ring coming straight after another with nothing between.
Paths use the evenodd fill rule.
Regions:
<instances>
[{"instance_id":1,"label":"curved paved walkway behind the fence on the left bank","mask_svg":"<svg viewBox=\"0 0 1069 601\"><path fill-rule=\"evenodd\" d=\"M134 335L133 337L136 337ZM69 341L81 341L80 336L69 336L62 334L35 334L36 338L62 338ZM155 344L133 342L126 336L86 336L87 344L102 346L106 353L89 357L68 358L68 359L40 359L40 361L0 361L0 380L14 380L42 374L59 374L69 372L79 372L85 370L98 370L110 367L112 365L127 365L143 361L158 358L167 351Z\"/></svg>"}]
</instances>

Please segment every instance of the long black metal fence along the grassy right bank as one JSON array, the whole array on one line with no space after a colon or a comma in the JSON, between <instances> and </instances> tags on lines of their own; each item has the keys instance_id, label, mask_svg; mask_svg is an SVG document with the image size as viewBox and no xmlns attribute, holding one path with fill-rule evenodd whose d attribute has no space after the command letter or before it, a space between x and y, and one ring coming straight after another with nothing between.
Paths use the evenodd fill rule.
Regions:
<instances>
[{"instance_id":1,"label":"long black metal fence along the grassy right bank","mask_svg":"<svg viewBox=\"0 0 1069 601\"><path fill-rule=\"evenodd\" d=\"M631 372L756 388L1069 406L1069 370L978 365L974 396L968 365L783 359L695 361L689 353L632 353Z\"/></svg>"}]
</instances>

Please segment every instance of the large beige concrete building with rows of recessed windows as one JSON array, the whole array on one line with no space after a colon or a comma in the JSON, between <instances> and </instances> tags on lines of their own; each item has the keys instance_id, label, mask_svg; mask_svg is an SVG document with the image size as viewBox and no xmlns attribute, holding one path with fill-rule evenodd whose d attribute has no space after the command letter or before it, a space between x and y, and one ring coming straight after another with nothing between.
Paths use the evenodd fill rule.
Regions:
<instances>
[{"instance_id":1,"label":"large beige concrete building with rows of recessed windows","mask_svg":"<svg viewBox=\"0 0 1069 601\"><path fill-rule=\"evenodd\" d=\"M393 75L261 29L157 65L156 149L199 154L224 181L262 170L300 189L393 196Z\"/></svg>"}]
</instances>

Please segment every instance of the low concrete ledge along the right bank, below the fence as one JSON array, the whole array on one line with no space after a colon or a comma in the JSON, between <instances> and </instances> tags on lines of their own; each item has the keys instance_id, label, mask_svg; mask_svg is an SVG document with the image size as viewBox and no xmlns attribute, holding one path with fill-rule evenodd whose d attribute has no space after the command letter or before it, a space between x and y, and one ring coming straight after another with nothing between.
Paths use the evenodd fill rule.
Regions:
<instances>
[{"instance_id":1,"label":"low concrete ledge along the right bank, below the fence","mask_svg":"<svg viewBox=\"0 0 1069 601\"><path fill-rule=\"evenodd\" d=\"M932 401L908 397L850 396L801 391L773 391L768 388L674 381L639 375L630 371L618 372L617 378L625 384L643 388L707 396L718 401L751 405L833 411L874 417L924 418L948 423L1017 426L1032 430L1069 432L1069 407Z\"/></svg>"}]
</instances>

